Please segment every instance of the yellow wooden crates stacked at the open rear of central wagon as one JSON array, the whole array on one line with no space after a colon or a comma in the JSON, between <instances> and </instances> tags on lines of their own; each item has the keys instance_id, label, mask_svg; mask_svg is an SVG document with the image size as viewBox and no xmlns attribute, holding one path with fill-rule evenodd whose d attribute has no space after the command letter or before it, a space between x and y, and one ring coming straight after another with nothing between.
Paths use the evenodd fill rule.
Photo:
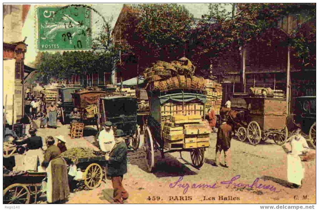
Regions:
<instances>
[{"instance_id":1,"label":"yellow wooden crates stacked at the open rear of central wagon","mask_svg":"<svg viewBox=\"0 0 319 210\"><path fill-rule=\"evenodd\" d=\"M166 149L209 147L210 129L200 115L175 115L163 128Z\"/></svg>"}]
</instances>

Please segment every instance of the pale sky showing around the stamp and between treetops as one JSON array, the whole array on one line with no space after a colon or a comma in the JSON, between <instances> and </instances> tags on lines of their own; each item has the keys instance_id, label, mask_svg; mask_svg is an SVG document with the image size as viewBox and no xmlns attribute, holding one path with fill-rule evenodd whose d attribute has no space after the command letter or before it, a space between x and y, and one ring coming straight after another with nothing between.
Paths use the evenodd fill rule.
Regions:
<instances>
[{"instance_id":1,"label":"pale sky showing around the stamp and between treetops","mask_svg":"<svg viewBox=\"0 0 319 210\"><path fill-rule=\"evenodd\" d=\"M201 18L203 14L208 12L208 3L204 4L182 4L194 15L195 18ZM41 5L45 6L45 5ZM106 19L113 18L111 22L112 27L115 25L116 20L121 12L123 4L93 4L92 7L96 9L101 15L103 15ZM22 28L22 38L27 37L26 44L27 52L25 54L25 64L30 65L34 60L38 53L36 39L37 39L37 32L36 32L36 21L35 18L35 5L31 5L30 11L26 17L26 21ZM92 35L97 34L98 24L94 24L96 22L101 22L102 19L100 16L92 11ZM32 65L31 65L32 66ZM32 66L33 67L33 66Z\"/></svg>"}]
</instances>

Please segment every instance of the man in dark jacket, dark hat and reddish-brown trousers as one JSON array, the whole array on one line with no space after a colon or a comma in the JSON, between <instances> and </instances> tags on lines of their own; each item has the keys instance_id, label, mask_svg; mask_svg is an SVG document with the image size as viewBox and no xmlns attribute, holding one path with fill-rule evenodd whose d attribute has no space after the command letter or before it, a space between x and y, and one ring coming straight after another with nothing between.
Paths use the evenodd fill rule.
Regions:
<instances>
[{"instance_id":1,"label":"man in dark jacket, dark hat and reddish-brown trousers","mask_svg":"<svg viewBox=\"0 0 319 210\"><path fill-rule=\"evenodd\" d=\"M108 160L107 176L111 177L114 189L113 197L115 203L123 203L129 197L129 193L122 185L123 175L127 173L127 147L123 136L124 132L120 129L115 131L115 145L110 154L105 155Z\"/></svg>"}]
</instances>

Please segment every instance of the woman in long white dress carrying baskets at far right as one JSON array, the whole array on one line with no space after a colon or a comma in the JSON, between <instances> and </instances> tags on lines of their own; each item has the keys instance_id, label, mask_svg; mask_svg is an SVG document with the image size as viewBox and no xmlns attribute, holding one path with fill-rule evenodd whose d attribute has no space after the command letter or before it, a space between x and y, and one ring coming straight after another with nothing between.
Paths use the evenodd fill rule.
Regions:
<instances>
[{"instance_id":1,"label":"woman in long white dress carrying baskets at far right","mask_svg":"<svg viewBox=\"0 0 319 210\"><path fill-rule=\"evenodd\" d=\"M294 135L287 142L291 145L291 151L287 153L287 178L292 183L293 188L300 188L304 178L305 168L301 162L300 155L308 152L307 141L300 134L301 129L298 127Z\"/></svg>"}]
</instances>

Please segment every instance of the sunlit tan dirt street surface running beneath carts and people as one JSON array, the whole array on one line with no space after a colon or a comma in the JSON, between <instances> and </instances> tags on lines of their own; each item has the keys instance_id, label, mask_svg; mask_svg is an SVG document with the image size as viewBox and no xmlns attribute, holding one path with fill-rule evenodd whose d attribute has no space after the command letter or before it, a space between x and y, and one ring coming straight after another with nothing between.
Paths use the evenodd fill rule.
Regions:
<instances>
[{"instance_id":1,"label":"sunlit tan dirt street surface running beneath carts and people","mask_svg":"<svg viewBox=\"0 0 319 210\"><path fill-rule=\"evenodd\" d=\"M38 129L38 135L42 137L63 135L67 148L94 148L91 142L94 141L95 132L93 127L87 127L84 138L71 139L68 125L58 123L57 129ZM182 158L179 152L166 153L165 159L157 152L156 169L148 173L141 142L137 151L128 153L128 173L123 179L123 185L130 194L127 203L315 203L315 161L303 162L306 171L303 185L300 189L291 189L286 181L286 153L272 140L253 146L248 141L233 139L229 168L212 165L215 144L216 133L213 133L210 148L205 151L204 165L199 170L192 166L189 152L182 152ZM251 188L220 183L232 178L233 183L243 185L252 185L254 181L256 183L256 178L260 179ZM179 179L180 182L175 183ZM183 187L178 184L183 184ZM206 188L192 188L193 184L206 184ZM256 186L260 184L273 187L258 189ZM207 185L211 188L207 188ZM71 193L67 203L110 203L112 195L112 183L106 180L94 190Z\"/></svg>"}]
</instances>

